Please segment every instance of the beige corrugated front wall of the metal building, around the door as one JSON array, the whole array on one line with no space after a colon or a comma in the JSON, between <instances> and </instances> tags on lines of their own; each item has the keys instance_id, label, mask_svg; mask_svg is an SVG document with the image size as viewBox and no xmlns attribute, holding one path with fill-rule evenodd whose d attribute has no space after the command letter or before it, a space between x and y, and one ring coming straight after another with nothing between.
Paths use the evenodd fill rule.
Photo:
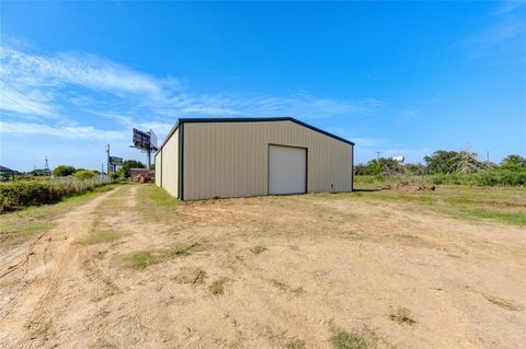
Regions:
<instances>
[{"instance_id":1,"label":"beige corrugated front wall of the metal building, around the door","mask_svg":"<svg viewBox=\"0 0 526 349\"><path fill-rule=\"evenodd\" d=\"M184 199L268 194L268 144L308 149L309 193L352 190L351 144L293 121L188 123Z\"/></svg>"}]
</instances>

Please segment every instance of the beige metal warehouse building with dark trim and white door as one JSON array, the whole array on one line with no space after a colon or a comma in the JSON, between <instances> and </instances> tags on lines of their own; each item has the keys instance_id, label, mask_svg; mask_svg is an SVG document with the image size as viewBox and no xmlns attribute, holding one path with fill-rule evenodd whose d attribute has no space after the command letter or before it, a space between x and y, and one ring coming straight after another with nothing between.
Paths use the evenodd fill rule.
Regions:
<instances>
[{"instance_id":1,"label":"beige metal warehouse building with dark trim and white door","mask_svg":"<svg viewBox=\"0 0 526 349\"><path fill-rule=\"evenodd\" d=\"M353 142L295 118L182 118L156 183L181 200L352 191L353 161Z\"/></svg>"}]
</instances>

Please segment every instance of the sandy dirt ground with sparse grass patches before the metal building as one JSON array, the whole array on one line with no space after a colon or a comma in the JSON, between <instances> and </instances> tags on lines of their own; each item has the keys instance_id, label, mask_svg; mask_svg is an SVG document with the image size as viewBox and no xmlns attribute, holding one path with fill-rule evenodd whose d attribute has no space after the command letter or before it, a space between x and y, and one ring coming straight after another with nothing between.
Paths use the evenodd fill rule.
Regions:
<instances>
[{"instance_id":1,"label":"sandy dirt ground with sparse grass patches before the metal building","mask_svg":"<svg viewBox=\"0 0 526 349\"><path fill-rule=\"evenodd\" d=\"M316 196L145 206L144 188L2 253L0 347L524 346L522 228Z\"/></svg>"}]
</instances>

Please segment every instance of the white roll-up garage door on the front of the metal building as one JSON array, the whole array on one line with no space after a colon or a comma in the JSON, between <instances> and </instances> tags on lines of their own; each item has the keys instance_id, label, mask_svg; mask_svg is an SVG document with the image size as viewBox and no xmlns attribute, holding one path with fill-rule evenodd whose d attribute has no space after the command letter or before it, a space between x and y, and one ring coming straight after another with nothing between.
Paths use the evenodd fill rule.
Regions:
<instances>
[{"instance_id":1,"label":"white roll-up garage door on the front of the metal building","mask_svg":"<svg viewBox=\"0 0 526 349\"><path fill-rule=\"evenodd\" d=\"M270 146L268 194L306 193L307 149Z\"/></svg>"}]
</instances>

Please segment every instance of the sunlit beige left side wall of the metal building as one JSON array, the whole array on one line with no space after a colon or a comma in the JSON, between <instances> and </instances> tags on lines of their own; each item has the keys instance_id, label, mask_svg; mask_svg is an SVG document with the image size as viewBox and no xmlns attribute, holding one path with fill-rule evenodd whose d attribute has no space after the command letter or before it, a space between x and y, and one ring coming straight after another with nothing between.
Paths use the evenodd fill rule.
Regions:
<instances>
[{"instance_id":1,"label":"sunlit beige left side wall of the metal building","mask_svg":"<svg viewBox=\"0 0 526 349\"><path fill-rule=\"evenodd\" d=\"M179 129L161 149L162 187L172 196L179 197ZM156 156L157 170L157 156ZM156 172L157 173L157 172Z\"/></svg>"}]
</instances>

